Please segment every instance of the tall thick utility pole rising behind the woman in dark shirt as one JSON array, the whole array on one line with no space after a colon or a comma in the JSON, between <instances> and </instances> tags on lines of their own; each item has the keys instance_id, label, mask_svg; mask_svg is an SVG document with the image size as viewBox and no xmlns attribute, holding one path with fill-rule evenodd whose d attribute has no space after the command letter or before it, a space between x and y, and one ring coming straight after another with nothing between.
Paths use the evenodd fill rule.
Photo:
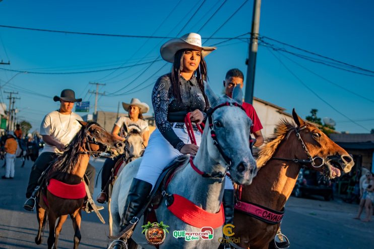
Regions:
<instances>
[{"instance_id":1,"label":"tall thick utility pole rising behind the woman in dark shirt","mask_svg":"<svg viewBox=\"0 0 374 249\"><path fill-rule=\"evenodd\" d=\"M245 81L245 98L246 103L253 103L253 91L255 87L255 71L256 71L256 56L259 46L259 30L260 30L260 10L261 0L254 0L253 15L252 15L252 29L250 51L247 62L247 75Z\"/></svg>"}]
</instances>

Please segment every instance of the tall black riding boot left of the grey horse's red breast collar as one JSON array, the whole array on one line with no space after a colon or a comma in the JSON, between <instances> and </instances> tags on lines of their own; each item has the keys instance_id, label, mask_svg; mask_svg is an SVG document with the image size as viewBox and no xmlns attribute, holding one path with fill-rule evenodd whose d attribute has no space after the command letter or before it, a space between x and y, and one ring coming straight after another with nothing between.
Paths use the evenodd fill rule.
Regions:
<instances>
[{"instance_id":1,"label":"tall black riding boot left of the grey horse's red breast collar","mask_svg":"<svg viewBox=\"0 0 374 249\"><path fill-rule=\"evenodd\" d=\"M130 221L138 214L147 202L147 197L152 190L152 184L134 178L131 183L129 195L124 205L123 216L121 220L121 231L126 228ZM138 217L140 218L140 217Z\"/></svg>"}]
</instances>

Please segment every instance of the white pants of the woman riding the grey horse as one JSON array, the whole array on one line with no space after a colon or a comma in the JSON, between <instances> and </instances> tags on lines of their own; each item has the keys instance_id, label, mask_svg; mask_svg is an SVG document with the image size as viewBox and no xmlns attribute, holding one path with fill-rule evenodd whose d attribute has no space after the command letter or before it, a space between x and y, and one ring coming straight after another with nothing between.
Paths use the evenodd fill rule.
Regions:
<instances>
[{"instance_id":1,"label":"white pants of the woman riding the grey horse","mask_svg":"<svg viewBox=\"0 0 374 249\"><path fill-rule=\"evenodd\" d=\"M185 143L192 143L191 139L181 128L173 128L175 134ZM195 132L197 145L200 146L201 133ZM177 156L181 155L160 133L158 129L152 132L148 141L148 146L144 151L142 162L139 166L138 174L135 178L146 181L155 186L157 179L161 175L163 169ZM233 189L229 178L225 181L225 189Z\"/></svg>"}]
</instances>

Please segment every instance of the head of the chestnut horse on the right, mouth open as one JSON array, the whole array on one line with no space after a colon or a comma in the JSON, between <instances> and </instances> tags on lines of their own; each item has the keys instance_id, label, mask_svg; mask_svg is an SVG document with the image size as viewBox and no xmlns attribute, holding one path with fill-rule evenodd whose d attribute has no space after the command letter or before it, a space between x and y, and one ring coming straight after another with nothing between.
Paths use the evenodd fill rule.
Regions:
<instances>
[{"instance_id":1,"label":"head of the chestnut horse on the right, mouth open","mask_svg":"<svg viewBox=\"0 0 374 249\"><path fill-rule=\"evenodd\" d=\"M339 177L341 171L345 173L351 171L354 162L347 151L334 143L315 125L302 120L296 114L295 109L292 111L292 116L296 123L295 134L298 138L295 139L295 143L300 144L300 149L294 151L296 158L307 159L309 153L314 158L314 163L307 163L306 165L324 173L330 179ZM302 142L305 144L306 149L303 147Z\"/></svg>"}]
</instances>

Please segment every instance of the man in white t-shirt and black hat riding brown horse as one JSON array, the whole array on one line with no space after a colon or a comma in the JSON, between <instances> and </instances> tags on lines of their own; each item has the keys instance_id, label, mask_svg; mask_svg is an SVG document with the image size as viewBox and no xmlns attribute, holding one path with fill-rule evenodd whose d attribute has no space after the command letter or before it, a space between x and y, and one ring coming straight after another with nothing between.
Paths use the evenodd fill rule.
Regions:
<instances>
[{"instance_id":1,"label":"man in white t-shirt and black hat riding brown horse","mask_svg":"<svg viewBox=\"0 0 374 249\"><path fill-rule=\"evenodd\" d=\"M83 121L83 119L72 112L74 103L81 102L82 99L76 99L73 90L65 89L61 92L60 97L54 96L53 100L60 102L60 108L45 115L40 125L40 135L42 135L45 145L31 169L26 191L28 200L24 204L24 208L28 211L32 211L35 207L35 198L32 197L32 194L38 185L38 179L41 174L58 155L63 153L64 148L73 140L82 127L78 120ZM85 174L90 181L89 189L92 196L95 168L88 164ZM103 207L98 208L102 209Z\"/></svg>"}]
</instances>

